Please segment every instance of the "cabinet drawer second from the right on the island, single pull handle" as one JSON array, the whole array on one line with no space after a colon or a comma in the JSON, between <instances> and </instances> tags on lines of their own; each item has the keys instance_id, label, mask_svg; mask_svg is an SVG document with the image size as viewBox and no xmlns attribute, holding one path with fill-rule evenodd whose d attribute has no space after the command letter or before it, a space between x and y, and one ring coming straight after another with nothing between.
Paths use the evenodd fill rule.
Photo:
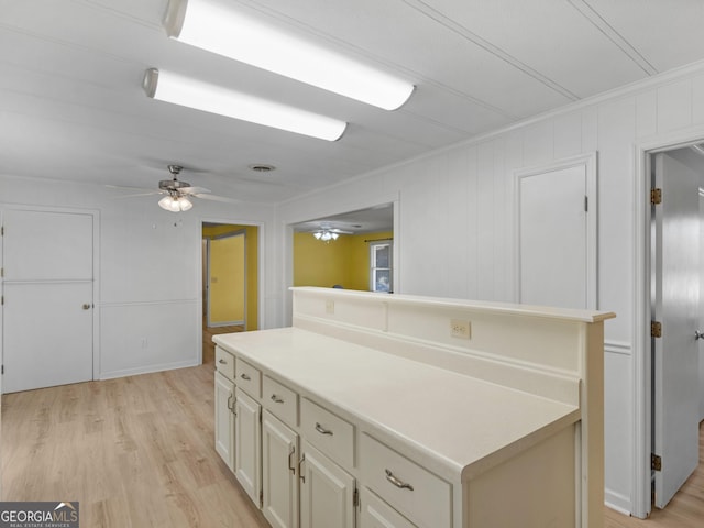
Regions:
<instances>
[{"instance_id":1,"label":"cabinet drawer second from the right on the island, single pull handle","mask_svg":"<svg viewBox=\"0 0 704 528\"><path fill-rule=\"evenodd\" d=\"M354 466L354 426L304 398L300 429L310 443L340 465Z\"/></svg>"}]
</instances>

